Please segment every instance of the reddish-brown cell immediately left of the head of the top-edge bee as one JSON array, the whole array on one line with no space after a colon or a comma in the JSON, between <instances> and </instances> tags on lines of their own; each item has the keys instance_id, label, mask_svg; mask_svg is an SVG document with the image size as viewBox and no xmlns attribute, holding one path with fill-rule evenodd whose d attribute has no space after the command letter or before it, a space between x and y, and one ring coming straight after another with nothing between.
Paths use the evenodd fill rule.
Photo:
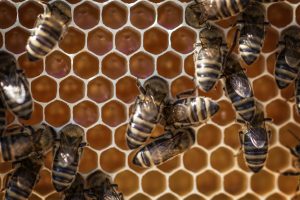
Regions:
<instances>
[{"instance_id":1,"label":"reddish-brown cell immediately left of the head of the top-edge bee","mask_svg":"<svg viewBox=\"0 0 300 200\"><path fill-rule=\"evenodd\" d=\"M182 7L166 2L157 9L157 22L166 29L174 29L182 23Z\"/></svg>"}]
</instances>

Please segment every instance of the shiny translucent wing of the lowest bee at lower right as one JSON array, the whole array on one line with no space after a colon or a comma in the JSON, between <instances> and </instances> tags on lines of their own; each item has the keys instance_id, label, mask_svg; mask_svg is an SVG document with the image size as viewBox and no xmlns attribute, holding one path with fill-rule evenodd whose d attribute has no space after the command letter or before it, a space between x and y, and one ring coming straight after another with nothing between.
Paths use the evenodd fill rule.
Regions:
<instances>
[{"instance_id":1,"label":"shiny translucent wing of the lowest bee at lower right","mask_svg":"<svg viewBox=\"0 0 300 200\"><path fill-rule=\"evenodd\" d=\"M253 145L257 148L262 148L267 142L267 132L261 127L251 127L248 131L248 136Z\"/></svg>"}]
</instances>

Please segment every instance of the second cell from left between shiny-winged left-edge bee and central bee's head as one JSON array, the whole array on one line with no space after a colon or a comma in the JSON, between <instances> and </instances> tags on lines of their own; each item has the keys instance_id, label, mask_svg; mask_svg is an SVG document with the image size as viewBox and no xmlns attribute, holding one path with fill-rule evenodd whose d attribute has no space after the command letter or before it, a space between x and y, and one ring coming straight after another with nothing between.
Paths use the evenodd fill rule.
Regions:
<instances>
[{"instance_id":1,"label":"second cell from left between shiny-winged left-edge bee and central bee's head","mask_svg":"<svg viewBox=\"0 0 300 200\"><path fill-rule=\"evenodd\" d=\"M59 83L59 96L69 103L75 103L84 97L84 89L82 80L69 76Z\"/></svg>"}]
</instances>

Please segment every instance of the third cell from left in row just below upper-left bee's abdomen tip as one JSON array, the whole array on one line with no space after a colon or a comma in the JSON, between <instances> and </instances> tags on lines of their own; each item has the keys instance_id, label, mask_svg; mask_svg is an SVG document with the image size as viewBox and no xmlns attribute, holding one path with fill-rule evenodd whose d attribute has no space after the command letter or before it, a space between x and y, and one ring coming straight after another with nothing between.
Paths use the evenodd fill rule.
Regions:
<instances>
[{"instance_id":1,"label":"third cell from left in row just below upper-left bee's abdomen tip","mask_svg":"<svg viewBox=\"0 0 300 200\"><path fill-rule=\"evenodd\" d=\"M88 52L81 52L74 57L74 73L88 79L99 72L99 60Z\"/></svg>"}]
</instances>

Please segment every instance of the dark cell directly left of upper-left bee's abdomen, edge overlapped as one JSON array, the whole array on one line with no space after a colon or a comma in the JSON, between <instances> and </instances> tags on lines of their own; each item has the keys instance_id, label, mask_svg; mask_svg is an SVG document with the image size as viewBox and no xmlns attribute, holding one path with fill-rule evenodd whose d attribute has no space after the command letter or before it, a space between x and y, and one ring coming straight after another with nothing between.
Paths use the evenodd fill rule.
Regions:
<instances>
[{"instance_id":1,"label":"dark cell directly left of upper-left bee's abdomen, edge overlapped","mask_svg":"<svg viewBox=\"0 0 300 200\"><path fill-rule=\"evenodd\" d=\"M7 50L19 54L25 51L30 33L23 28L15 27L5 33L5 47Z\"/></svg>"}]
</instances>

